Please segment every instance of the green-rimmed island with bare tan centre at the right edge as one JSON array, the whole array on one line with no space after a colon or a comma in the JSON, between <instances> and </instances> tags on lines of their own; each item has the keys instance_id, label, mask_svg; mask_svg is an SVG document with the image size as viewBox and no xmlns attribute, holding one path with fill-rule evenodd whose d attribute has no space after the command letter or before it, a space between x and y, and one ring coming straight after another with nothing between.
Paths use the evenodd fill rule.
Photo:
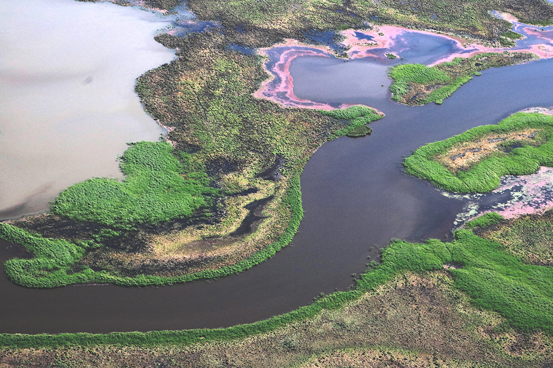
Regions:
<instances>
[{"instance_id":1,"label":"green-rimmed island with bare tan centre at the right edge","mask_svg":"<svg viewBox=\"0 0 553 368\"><path fill-rule=\"evenodd\" d=\"M553 116L517 113L429 143L404 161L406 172L457 193L486 193L503 175L553 166Z\"/></svg>"}]
</instances>

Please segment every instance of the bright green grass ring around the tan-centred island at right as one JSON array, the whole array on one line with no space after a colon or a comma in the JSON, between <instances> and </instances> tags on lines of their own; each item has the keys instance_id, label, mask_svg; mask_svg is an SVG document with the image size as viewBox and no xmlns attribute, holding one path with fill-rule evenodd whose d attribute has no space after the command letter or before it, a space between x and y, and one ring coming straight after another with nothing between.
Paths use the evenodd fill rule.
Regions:
<instances>
[{"instance_id":1,"label":"bright green grass ring around the tan-centred island at right","mask_svg":"<svg viewBox=\"0 0 553 368\"><path fill-rule=\"evenodd\" d=\"M473 162L466 170L452 172L437 161L437 156L447 159L447 152L460 145L475 141L486 142L512 132L525 129L539 130L533 143L510 140L504 151L495 150ZM539 166L553 165L553 117L542 114L517 113L497 125L473 128L445 141L420 147L405 159L406 172L430 180L439 188L458 193L485 193L497 188L503 175L534 173ZM509 151L509 146L523 143ZM477 148L479 149L479 148Z\"/></svg>"}]
</instances>

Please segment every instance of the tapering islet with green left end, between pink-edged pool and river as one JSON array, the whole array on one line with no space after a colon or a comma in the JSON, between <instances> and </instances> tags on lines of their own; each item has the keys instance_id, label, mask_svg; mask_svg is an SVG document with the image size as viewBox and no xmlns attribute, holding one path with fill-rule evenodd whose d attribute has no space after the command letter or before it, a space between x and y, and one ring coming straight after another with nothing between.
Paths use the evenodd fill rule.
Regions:
<instances>
[{"instance_id":1,"label":"tapering islet with green left end, between pink-edged pool and river","mask_svg":"<svg viewBox=\"0 0 553 368\"><path fill-rule=\"evenodd\" d=\"M502 38L513 42L507 38ZM505 41L505 42L507 42ZM392 99L406 105L441 104L457 88L467 83L480 71L491 67L514 65L535 60L537 56L523 52L486 53L470 58L457 57L453 61L432 67L420 64L404 64L390 68L394 79L390 86Z\"/></svg>"}]
</instances>

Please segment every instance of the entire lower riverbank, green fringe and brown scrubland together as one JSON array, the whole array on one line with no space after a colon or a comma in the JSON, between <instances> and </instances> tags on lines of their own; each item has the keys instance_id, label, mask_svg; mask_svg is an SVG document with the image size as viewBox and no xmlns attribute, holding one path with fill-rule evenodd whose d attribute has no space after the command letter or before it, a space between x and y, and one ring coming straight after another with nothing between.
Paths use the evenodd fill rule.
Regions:
<instances>
[{"instance_id":1,"label":"entire lower riverbank, green fringe and brown scrubland together","mask_svg":"<svg viewBox=\"0 0 553 368\"><path fill-rule=\"evenodd\" d=\"M491 213L468 222L451 243L393 240L354 290L253 324L1 334L0 366L547 367L553 273L532 260L551 257L551 216Z\"/></svg>"}]
</instances>

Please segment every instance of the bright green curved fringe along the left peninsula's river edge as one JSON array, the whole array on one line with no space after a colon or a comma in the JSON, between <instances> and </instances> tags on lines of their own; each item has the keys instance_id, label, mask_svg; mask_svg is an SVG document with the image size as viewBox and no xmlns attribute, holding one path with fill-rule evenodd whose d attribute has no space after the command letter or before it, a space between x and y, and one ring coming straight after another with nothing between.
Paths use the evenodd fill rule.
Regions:
<instances>
[{"instance_id":1,"label":"bright green curved fringe along the left peninsula's river edge","mask_svg":"<svg viewBox=\"0 0 553 368\"><path fill-rule=\"evenodd\" d=\"M180 276L137 275L124 276L108 273L105 270L94 271L86 265L79 264L86 250L99 248L100 244L92 241L71 243L65 240L43 238L7 223L0 223L0 238L21 244L32 259L10 259L4 265L9 279L19 285L35 288L51 288L86 282L109 282L122 286L152 286L175 284L203 279L216 279L240 273L272 257L284 248L298 230L303 214L299 175L292 178L290 189L283 198L284 205L292 212L292 217L285 232L269 246L232 266L205 270Z\"/></svg>"}]
</instances>

